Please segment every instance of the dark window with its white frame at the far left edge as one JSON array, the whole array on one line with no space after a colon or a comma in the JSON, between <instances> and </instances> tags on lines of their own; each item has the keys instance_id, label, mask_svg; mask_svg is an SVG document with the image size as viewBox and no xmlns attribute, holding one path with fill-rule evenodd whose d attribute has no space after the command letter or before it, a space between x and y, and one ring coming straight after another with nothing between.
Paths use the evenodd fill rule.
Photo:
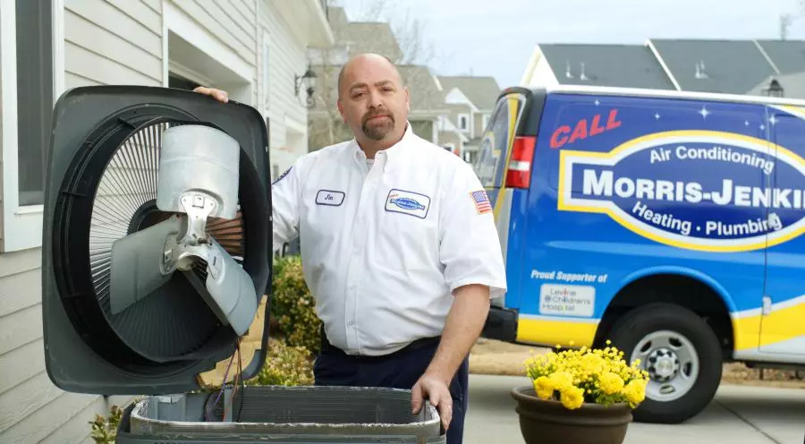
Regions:
<instances>
[{"instance_id":1,"label":"dark window with its white frame at the far left edge","mask_svg":"<svg viewBox=\"0 0 805 444\"><path fill-rule=\"evenodd\" d=\"M13 252L42 244L48 130L55 98L64 89L63 0L4 2L0 60L0 249Z\"/></svg>"}]
</instances>

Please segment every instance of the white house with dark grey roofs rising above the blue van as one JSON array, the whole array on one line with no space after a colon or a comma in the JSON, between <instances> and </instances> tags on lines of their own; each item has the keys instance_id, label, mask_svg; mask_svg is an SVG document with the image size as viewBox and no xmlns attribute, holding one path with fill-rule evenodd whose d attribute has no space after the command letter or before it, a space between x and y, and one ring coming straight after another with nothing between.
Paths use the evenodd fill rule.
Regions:
<instances>
[{"instance_id":1,"label":"white house with dark grey roofs rising above the blue van","mask_svg":"<svg viewBox=\"0 0 805 444\"><path fill-rule=\"evenodd\" d=\"M643 45L539 44L526 86L599 85L805 98L805 41L651 38Z\"/></svg>"}]
</instances>

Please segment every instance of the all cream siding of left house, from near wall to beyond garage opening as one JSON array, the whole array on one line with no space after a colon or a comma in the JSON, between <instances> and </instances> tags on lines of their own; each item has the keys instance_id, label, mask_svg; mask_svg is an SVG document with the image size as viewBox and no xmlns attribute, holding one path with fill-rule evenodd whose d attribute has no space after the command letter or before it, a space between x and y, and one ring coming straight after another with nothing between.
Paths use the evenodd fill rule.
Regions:
<instances>
[{"instance_id":1,"label":"all cream siding of left house, from near wall to beyond garage opening","mask_svg":"<svg viewBox=\"0 0 805 444\"><path fill-rule=\"evenodd\" d=\"M274 5L258 0L169 3L257 68L251 79L252 104L271 118L275 163L290 165L307 152L307 110L293 96L293 76L304 73L307 65L305 46L277 18ZM162 10L162 0L64 0L65 88L162 86ZM264 30L270 39L267 90L261 82ZM268 106L261 107L266 95ZM286 123L301 127L301 138L292 138L292 153L275 156L275 147L288 140ZM123 406L131 397L69 393L48 378L42 337L41 260L39 248L0 253L0 442L91 443L88 422L94 415L106 415L111 406Z\"/></svg>"}]
</instances>

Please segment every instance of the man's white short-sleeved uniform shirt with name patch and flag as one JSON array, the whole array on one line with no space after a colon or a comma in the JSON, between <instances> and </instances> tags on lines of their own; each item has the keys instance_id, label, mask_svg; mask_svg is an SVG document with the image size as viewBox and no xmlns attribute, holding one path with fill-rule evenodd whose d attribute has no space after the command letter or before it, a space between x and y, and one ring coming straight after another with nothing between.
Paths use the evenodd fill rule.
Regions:
<instances>
[{"instance_id":1,"label":"man's white short-sleeved uniform shirt with name patch and flag","mask_svg":"<svg viewBox=\"0 0 805 444\"><path fill-rule=\"evenodd\" d=\"M272 189L274 243L301 241L329 342L387 354L442 334L453 290L505 291L487 195L461 158L411 125L373 165L352 140L311 152Z\"/></svg>"}]
</instances>

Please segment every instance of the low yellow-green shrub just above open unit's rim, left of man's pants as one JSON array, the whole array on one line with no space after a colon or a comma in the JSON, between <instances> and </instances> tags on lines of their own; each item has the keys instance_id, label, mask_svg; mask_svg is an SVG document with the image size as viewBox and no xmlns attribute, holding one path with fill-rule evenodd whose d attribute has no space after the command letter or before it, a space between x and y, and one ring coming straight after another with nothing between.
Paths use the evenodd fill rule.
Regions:
<instances>
[{"instance_id":1,"label":"low yellow-green shrub just above open unit's rim, left of man's pants","mask_svg":"<svg viewBox=\"0 0 805 444\"><path fill-rule=\"evenodd\" d=\"M268 343L266 363L258 376L247 385L307 386L313 385L313 354L303 346L289 346L282 340Z\"/></svg>"}]
</instances>

